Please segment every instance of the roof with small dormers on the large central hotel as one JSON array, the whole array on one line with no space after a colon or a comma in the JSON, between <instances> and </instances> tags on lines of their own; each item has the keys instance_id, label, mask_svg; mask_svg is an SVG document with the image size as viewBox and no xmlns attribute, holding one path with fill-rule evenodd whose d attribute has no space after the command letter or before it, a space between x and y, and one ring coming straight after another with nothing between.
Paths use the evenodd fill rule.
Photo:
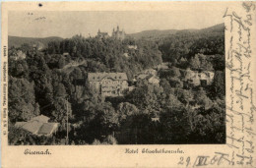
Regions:
<instances>
[{"instance_id":1,"label":"roof with small dormers on the large central hotel","mask_svg":"<svg viewBox=\"0 0 256 168\"><path fill-rule=\"evenodd\" d=\"M105 78L110 78L114 81L128 80L126 73L88 73L88 80L91 82L98 82Z\"/></svg>"}]
</instances>

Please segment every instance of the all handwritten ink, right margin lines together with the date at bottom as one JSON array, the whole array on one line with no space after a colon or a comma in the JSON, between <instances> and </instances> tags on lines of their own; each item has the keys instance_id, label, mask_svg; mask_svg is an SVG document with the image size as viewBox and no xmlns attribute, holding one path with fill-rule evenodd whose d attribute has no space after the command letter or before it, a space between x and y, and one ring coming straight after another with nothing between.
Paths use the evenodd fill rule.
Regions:
<instances>
[{"instance_id":1,"label":"all handwritten ink, right margin lines together with the date at bottom","mask_svg":"<svg viewBox=\"0 0 256 168\"><path fill-rule=\"evenodd\" d=\"M255 30L255 3L240 2L237 10L227 8L225 20L226 146L230 150L213 155L180 157L186 167L253 167L255 162L255 93L252 30ZM253 55L254 54L254 55ZM254 59L255 60L255 59ZM254 162L253 162L254 160Z\"/></svg>"}]
</instances>

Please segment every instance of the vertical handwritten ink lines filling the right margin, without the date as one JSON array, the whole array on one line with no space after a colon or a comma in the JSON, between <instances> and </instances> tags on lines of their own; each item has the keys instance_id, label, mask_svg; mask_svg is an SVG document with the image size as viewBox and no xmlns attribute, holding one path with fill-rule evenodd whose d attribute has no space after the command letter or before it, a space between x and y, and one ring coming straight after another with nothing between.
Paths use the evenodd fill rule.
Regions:
<instances>
[{"instance_id":1,"label":"vertical handwritten ink lines filling the right margin, without the date","mask_svg":"<svg viewBox=\"0 0 256 168\"><path fill-rule=\"evenodd\" d=\"M224 19L227 20L225 32L229 36L229 39L226 39L229 42L226 76L230 79L226 96L226 144L232 149L232 152L228 153L230 164L252 166L256 108L251 78L251 31L255 4L243 2L241 8L242 12L227 8L224 14Z\"/></svg>"}]
</instances>

